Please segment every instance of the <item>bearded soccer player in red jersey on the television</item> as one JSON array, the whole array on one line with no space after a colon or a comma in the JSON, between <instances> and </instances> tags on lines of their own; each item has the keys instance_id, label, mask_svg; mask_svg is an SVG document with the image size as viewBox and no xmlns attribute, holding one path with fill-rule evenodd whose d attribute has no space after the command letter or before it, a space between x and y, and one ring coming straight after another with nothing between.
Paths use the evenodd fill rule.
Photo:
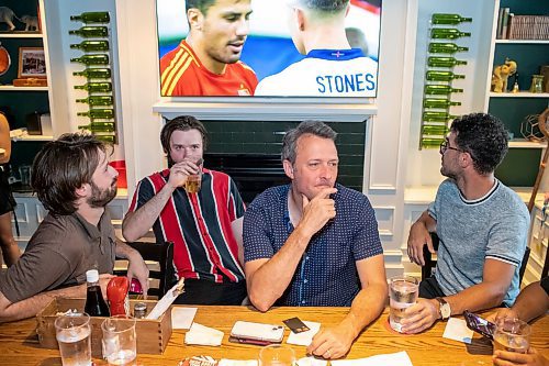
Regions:
<instances>
[{"instance_id":1,"label":"bearded soccer player in red jersey on the television","mask_svg":"<svg viewBox=\"0 0 549 366\"><path fill-rule=\"evenodd\" d=\"M164 97L251 96L254 70L240 62L250 0L187 0L189 34L160 59Z\"/></svg>"}]
</instances>

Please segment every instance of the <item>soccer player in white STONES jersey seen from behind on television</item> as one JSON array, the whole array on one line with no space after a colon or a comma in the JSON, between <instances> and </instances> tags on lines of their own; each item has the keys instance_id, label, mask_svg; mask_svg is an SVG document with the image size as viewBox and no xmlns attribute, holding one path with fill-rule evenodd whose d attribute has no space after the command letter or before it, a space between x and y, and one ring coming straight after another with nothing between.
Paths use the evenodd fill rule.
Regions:
<instances>
[{"instance_id":1,"label":"soccer player in white STONES jersey seen from behind on television","mask_svg":"<svg viewBox=\"0 0 549 366\"><path fill-rule=\"evenodd\" d=\"M349 0L288 0L293 44L306 57L262 79L256 96L376 97L378 63L351 48Z\"/></svg>"}]
</instances>

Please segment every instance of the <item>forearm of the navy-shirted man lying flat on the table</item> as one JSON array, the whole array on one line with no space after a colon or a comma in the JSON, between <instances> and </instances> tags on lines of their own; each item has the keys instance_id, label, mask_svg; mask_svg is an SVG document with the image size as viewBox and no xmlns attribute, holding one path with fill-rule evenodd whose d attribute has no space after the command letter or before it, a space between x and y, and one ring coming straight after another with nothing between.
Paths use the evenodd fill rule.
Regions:
<instances>
[{"instance_id":1,"label":"forearm of the navy-shirted man lying flat on the table","mask_svg":"<svg viewBox=\"0 0 549 366\"><path fill-rule=\"evenodd\" d=\"M388 287L384 284L371 284L358 292L349 313L341 321L341 324L352 330L354 339L383 312L386 298Z\"/></svg>"}]
</instances>

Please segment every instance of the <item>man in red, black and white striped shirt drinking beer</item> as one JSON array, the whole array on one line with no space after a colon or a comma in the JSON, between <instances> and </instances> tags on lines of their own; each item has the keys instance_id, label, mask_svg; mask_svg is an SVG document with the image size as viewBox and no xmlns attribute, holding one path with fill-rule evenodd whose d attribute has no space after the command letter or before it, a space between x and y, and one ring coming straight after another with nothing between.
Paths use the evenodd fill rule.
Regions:
<instances>
[{"instance_id":1,"label":"man in red, black and white striped shirt drinking beer","mask_svg":"<svg viewBox=\"0 0 549 366\"><path fill-rule=\"evenodd\" d=\"M204 125L178 117L163 127L160 141L169 169L139 181L122 232L136 241L150 228L158 242L173 242L173 266L184 277L184 293L176 302L240 304L246 297L242 266L244 202L226 174L202 166ZM182 186L201 175L198 192Z\"/></svg>"}]
</instances>

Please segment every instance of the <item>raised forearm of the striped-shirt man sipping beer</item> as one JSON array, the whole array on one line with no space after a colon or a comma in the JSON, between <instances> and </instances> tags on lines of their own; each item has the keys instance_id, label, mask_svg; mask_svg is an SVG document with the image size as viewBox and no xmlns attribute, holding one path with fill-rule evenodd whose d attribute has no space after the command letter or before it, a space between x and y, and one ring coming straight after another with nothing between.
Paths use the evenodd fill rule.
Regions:
<instances>
[{"instance_id":1,"label":"raised forearm of the striped-shirt man sipping beer","mask_svg":"<svg viewBox=\"0 0 549 366\"><path fill-rule=\"evenodd\" d=\"M122 235L128 242L135 242L145 235L160 215L166 202L171 197L173 188L166 185L147 203L135 212L128 212L122 222Z\"/></svg>"}]
</instances>

